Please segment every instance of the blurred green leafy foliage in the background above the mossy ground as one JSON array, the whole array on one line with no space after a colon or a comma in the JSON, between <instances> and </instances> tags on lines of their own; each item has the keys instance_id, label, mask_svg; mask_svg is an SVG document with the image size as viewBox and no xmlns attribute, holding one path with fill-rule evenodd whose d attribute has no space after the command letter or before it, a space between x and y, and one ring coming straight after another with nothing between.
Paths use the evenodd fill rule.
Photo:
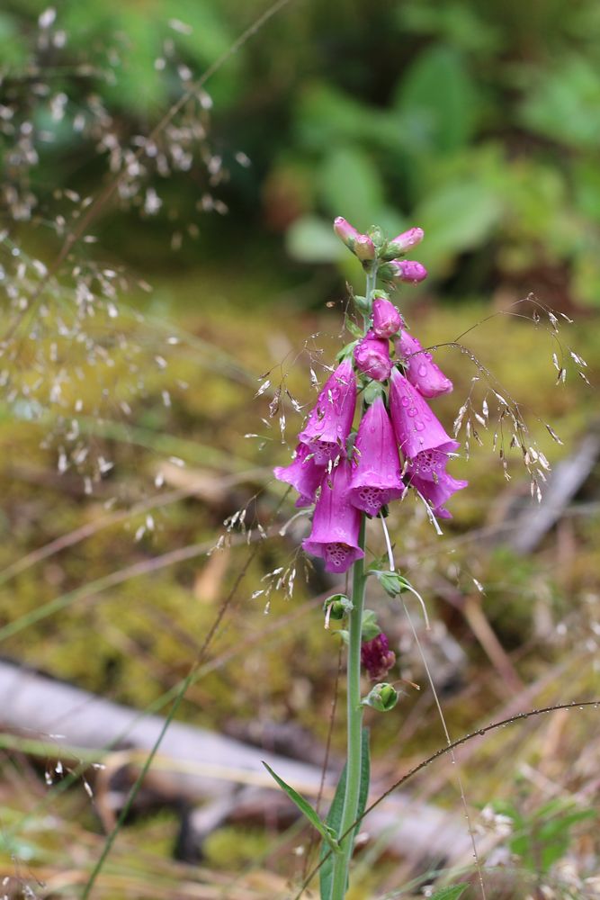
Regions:
<instances>
[{"instance_id":1,"label":"blurred green leafy foliage in the background above the mossy ground","mask_svg":"<svg viewBox=\"0 0 600 900\"><path fill-rule=\"evenodd\" d=\"M4 4L5 84L31 63L43 8ZM61 3L66 46L41 61L51 91L68 86L73 103L42 180L94 178L76 165L74 152L86 149L68 127L84 94L98 94L132 134L148 133L181 93L178 67L160 62L166 50L199 76L264 8ZM556 0L407 0L368 13L358 0L292 0L207 85L210 137L230 169L219 193L233 214L213 217L202 238L213 250L239 241L239 254L255 257L284 233L300 264L336 263L352 277L333 216L390 232L418 224L427 233L419 257L446 293L506 287L558 306L597 304L599 38L593 0L576 0L569 14ZM67 65L82 58L97 67L85 77ZM239 149L252 166L235 164ZM189 179L168 190L186 197Z\"/></svg>"}]
</instances>

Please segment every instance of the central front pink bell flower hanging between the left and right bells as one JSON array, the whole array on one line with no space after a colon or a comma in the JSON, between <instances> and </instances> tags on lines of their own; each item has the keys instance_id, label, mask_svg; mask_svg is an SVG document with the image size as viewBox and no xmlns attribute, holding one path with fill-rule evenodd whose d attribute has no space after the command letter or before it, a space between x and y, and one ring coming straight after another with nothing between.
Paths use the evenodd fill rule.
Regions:
<instances>
[{"instance_id":1,"label":"central front pink bell flower hanging between the left and right bells","mask_svg":"<svg viewBox=\"0 0 600 900\"><path fill-rule=\"evenodd\" d=\"M398 500L404 491L390 417L378 397L365 412L358 428L350 502L370 516L377 516L385 503Z\"/></svg>"}]
</instances>

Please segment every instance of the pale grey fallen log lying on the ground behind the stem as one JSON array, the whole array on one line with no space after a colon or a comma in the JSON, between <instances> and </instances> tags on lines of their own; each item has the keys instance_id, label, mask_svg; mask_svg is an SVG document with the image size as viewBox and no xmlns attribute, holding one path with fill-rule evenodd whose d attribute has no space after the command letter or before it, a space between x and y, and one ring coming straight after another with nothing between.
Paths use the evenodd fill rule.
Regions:
<instances>
[{"instance_id":1,"label":"pale grey fallen log lying on the ground behind the stem","mask_svg":"<svg viewBox=\"0 0 600 900\"><path fill-rule=\"evenodd\" d=\"M112 703L13 662L0 661L0 726L29 738L39 735L47 758L73 758L76 748L81 748L89 761L89 752L97 752L97 761L106 766L99 778L108 782L128 767L139 771L165 719ZM226 821L237 806L251 803L266 808L271 804L272 791L277 788L263 761L301 793L318 795L318 766L176 721L166 729L147 782L166 802L196 806L209 801L199 828L205 836L207 828ZM328 772L325 797L331 797L335 781L336 773ZM382 787L374 785L372 797L377 797ZM115 797L111 797L106 783L99 793L108 798L104 810L100 810L108 827ZM443 860L452 864L470 854L470 838L463 823L458 815L398 792L365 820L363 832L372 838L385 833L387 850L413 863Z\"/></svg>"}]
</instances>

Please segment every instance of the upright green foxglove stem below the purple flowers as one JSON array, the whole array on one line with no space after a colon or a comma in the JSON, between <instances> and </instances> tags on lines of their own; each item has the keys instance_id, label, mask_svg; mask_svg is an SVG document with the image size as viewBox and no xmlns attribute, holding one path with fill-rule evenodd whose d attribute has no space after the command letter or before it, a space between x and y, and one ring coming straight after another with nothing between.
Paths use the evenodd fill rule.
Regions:
<instances>
[{"instance_id":1,"label":"upright green foxglove stem below the purple flowers","mask_svg":"<svg viewBox=\"0 0 600 900\"><path fill-rule=\"evenodd\" d=\"M365 516L361 514L358 545L364 550ZM339 834L345 834L356 820L361 789L361 755L363 731L363 707L361 706L361 630L365 574L363 560L356 560L353 567L352 603L350 613L347 670L347 761L344 809ZM341 850L334 860L330 900L343 900L348 885L348 869L354 846L354 829L341 843Z\"/></svg>"}]
</instances>

